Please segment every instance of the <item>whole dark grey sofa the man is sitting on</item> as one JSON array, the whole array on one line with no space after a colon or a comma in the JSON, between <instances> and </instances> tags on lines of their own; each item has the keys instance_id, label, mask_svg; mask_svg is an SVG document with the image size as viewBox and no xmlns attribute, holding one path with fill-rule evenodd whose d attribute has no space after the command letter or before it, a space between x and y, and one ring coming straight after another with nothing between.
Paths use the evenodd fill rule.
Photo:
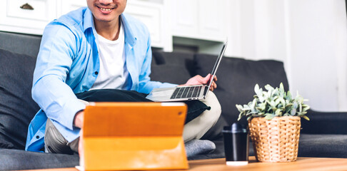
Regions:
<instances>
[{"instance_id":1,"label":"whole dark grey sofa the man is sitting on","mask_svg":"<svg viewBox=\"0 0 347 171\"><path fill-rule=\"evenodd\" d=\"M78 155L47 154L24 151L31 118L39 106L31 99L32 76L40 36L0 31L0 170L44 169L79 165ZM185 83L188 78L211 72L216 56L198 53L166 53L154 49L151 78L154 81ZM253 98L253 87L288 81L280 61L250 61L223 58L218 68L218 88L214 91L221 103L222 115L203 139L216 143L208 155L188 160L224 157L221 129L236 122L236 104ZM347 157L347 113L319 113L310 110L311 121L302 122L298 156ZM246 123L246 120L240 122ZM253 147L250 145L250 155Z\"/></svg>"}]
</instances>

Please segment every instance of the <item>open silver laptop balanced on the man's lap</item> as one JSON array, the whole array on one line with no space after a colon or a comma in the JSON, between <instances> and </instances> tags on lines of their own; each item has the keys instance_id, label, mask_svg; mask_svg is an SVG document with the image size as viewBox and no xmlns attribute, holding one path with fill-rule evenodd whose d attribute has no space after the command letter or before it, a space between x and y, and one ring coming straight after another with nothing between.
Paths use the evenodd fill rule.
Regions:
<instances>
[{"instance_id":1,"label":"open silver laptop balanced on the man's lap","mask_svg":"<svg viewBox=\"0 0 347 171\"><path fill-rule=\"evenodd\" d=\"M214 63L211 80L208 86L197 85L197 86L178 86L174 88L154 88L149 95L146 96L147 99L156 102L168 102L168 101L183 101L183 100L201 100L205 99L208 91L212 85L213 78L216 76L216 71L218 69L219 63L221 63L221 58L223 57L224 51L226 51L226 45L228 40L223 44L221 53Z\"/></svg>"}]
</instances>

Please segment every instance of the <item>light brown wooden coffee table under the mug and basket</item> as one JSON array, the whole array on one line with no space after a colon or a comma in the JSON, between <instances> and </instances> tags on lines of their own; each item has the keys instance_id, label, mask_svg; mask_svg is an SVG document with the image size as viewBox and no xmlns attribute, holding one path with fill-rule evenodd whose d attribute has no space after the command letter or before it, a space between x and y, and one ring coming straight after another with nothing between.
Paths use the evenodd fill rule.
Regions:
<instances>
[{"instance_id":1,"label":"light brown wooden coffee table under the mug and basket","mask_svg":"<svg viewBox=\"0 0 347 171\"><path fill-rule=\"evenodd\" d=\"M249 163L245 166L227 166L225 159L190 160L189 170L248 170L248 171L278 171L278 170L347 170L345 158L313 158L298 157L296 162L256 162L256 158L249 157ZM36 170L39 171L39 170ZM41 170L40 170L41 171ZM43 170L42 170L43 171ZM50 169L50 171L78 171L76 168Z\"/></svg>"}]
</instances>

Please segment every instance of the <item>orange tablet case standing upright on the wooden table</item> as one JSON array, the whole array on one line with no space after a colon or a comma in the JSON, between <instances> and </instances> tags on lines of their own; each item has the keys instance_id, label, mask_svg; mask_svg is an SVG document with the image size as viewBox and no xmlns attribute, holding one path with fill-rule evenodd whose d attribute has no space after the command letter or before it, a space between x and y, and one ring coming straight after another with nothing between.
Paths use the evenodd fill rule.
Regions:
<instances>
[{"instance_id":1,"label":"orange tablet case standing upright on the wooden table","mask_svg":"<svg viewBox=\"0 0 347 171\"><path fill-rule=\"evenodd\" d=\"M184 103L92 103L84 110L84 170L188 169Z\"/></svg>"}]
</instances>

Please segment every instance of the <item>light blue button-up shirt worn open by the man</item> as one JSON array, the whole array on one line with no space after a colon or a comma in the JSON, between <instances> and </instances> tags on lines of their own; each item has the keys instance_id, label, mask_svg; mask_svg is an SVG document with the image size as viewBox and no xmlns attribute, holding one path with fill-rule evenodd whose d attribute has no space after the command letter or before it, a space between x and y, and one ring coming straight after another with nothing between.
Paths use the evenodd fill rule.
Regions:
<instances>
[{"instance_id":1,"label":"light blue button-up shirt worn open by the man","mask_svg":"<svg viewBox=\"0 0 347 171\"><path fill-rule=\"evenodd\" d=\"M141 22L121 14L124 25L124 51L131 78L127 90L149 93L153 88L173 87L170 83L150 81L151 40ZM41 110L29 125L26 150L44 147L46 120L50 118L69 142L79 137L73 126L74 115L86 106L75 93L93 86L99 73L97 33L91 11L83 7L51 21L44 29L37 56L32 96Z\"/></svg>"}]
</instances>

